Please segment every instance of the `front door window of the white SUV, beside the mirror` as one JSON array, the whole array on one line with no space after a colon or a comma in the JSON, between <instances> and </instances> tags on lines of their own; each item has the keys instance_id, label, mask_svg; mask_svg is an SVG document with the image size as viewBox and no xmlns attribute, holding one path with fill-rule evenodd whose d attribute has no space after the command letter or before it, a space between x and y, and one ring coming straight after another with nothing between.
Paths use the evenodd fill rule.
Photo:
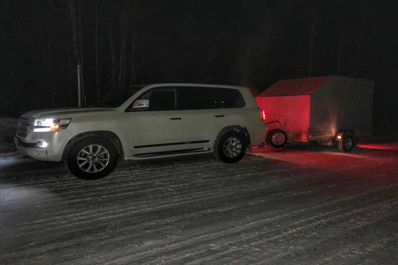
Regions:
<instances>
[{"instance_id":1,"label":"front door window of the white SUV, beside the mirror","mask_svg":"<svg viewBox=\"0 0 398 265\"><path fill-rule=\"evenodd\" d=\"M152 88L144 92L137 99L149 99L149 107L147 109L139 109L137 111L176 110L175 88ZM132 103L129 107L130 111L135 111L131 109L131 106Z\"/></svg>"}]
</instances>

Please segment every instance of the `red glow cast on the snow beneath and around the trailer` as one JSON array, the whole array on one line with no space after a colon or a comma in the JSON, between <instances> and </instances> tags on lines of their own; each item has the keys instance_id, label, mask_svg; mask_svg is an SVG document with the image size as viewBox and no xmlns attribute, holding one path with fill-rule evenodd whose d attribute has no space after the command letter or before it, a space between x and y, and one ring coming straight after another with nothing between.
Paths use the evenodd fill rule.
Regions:
<instances>
[{"instance_id":1,"label":"red glow cast on the snow beneath and around the trailer","mask_svg":"<svg viewBox=\"0 0 398 265\"><path fill-rule=\"evenodd\" d=\"M350 153L337 147L316 145L253 148L253 154L285 161L290 164L337 174L341 177L361 177L398 171L398 143L359 143ZM336 175L336 176L337 176Z\"/></svg>"}]
</instances>

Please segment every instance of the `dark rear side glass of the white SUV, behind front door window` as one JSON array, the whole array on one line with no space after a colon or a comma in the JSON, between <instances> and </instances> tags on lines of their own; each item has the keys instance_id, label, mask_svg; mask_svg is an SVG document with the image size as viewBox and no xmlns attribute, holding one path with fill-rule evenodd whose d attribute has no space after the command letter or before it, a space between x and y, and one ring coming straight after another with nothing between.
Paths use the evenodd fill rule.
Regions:
<instances>
[{"instance_id":1,"label":"dark rear side glass of the white SUV, behind front door window","mask_svg":"<svg viewBox=\"0 0 398 265\"><path fill-rule=\"evenodd\" d=\"M241 108L246 105L238 89L178 87L177 109Z\"/></svg>"}]
</instances>

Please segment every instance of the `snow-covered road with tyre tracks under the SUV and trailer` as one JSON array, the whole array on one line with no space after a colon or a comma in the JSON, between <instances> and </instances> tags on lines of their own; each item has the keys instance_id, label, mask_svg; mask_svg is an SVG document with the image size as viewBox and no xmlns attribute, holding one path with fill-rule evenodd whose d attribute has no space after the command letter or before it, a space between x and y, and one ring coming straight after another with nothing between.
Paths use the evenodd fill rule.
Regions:
<instances>
[{"instance_id":1,"label":"snow-covered road with tyre tracks under the SUV and trailer","mask_svg":"<svg viewBox=\"0 0 398 265\"><path fill-rule=\"evenodd\" d=\"M120 164L0 156L0 264L397 264L398 144Z\"/></svg>"}]
</instances>

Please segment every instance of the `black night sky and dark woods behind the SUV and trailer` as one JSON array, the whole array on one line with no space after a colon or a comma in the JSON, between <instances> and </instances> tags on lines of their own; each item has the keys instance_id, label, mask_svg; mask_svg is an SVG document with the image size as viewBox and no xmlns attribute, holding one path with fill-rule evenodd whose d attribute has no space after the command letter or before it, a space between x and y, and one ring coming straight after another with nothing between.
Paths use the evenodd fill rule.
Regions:
<instances>
[{"instance_id":1,"label":"black night sky and dark woods behind the SUV and trailer","mask_svg":"<svg viewBox=\"0 0 398 265\"><path fill-rule=\"evenodd\" d=\"M163 82L258 93L308 77L312 31L311 76L337 75L340 47L340 75L376 82L375 123L398 123L397 10L387 0L0 0L0 116L76 106L79 61L86 104Z\"/></svg>"}]
</instances>

